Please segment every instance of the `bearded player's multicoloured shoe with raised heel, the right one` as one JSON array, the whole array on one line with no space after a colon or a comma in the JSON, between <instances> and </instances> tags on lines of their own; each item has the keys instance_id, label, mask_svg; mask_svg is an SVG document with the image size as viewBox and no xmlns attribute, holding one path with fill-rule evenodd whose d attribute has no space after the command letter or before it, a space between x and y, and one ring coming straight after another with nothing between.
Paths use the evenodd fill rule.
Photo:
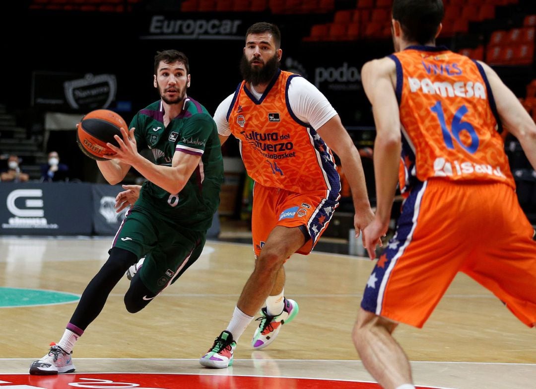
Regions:
<instances>
[{"instance_id":1,"label":"bearded player's multicoloured shoe with raised heel, the right one","mask_svg":"<svg viewBox=\"0 0 536 389\"><path fill-rule=\"evenodd\" d=\"M253 335L251 340L251 346L254 349L260 350L265 348L274 340L276 340L279 331L281 331L281 326L285 323L291 322L294 319L299 311L298 304L291 299L285 299L285 305L283 312L277 316L271 316L267 313L266 307L260 310L262 316L257 320L260 321L259 326Z\"/></svg>"}]
</instances>

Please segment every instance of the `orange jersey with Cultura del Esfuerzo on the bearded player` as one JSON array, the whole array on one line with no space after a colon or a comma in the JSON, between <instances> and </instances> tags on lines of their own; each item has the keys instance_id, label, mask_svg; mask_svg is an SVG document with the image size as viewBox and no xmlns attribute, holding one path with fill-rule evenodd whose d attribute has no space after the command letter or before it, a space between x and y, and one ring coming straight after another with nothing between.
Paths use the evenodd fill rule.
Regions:
<instances>
[{"instance_id":1,"label":"orange jersey with Cultura del Esfuerzo on the bearded player","mask_svg":"<svg viewBox=\"0 0 536 389\"><path fill-rule=\"evenodd\" d=\"M287 101L293 77L300 76L279 71L260 100L242 82L227 113L230 131L240 142L249 176L259 184L338 196L340 180L331 150L310 124L293 114Z\"/></svg>"}]
</instances>

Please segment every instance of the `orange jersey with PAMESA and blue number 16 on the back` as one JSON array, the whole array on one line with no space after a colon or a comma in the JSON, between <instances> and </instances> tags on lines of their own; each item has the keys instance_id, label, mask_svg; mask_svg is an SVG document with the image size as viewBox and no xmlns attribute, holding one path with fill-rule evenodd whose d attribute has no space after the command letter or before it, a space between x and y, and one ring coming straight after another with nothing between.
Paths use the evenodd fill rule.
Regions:
<instances>
[{"instance_id":1,"label":"orange jersey with PAMESA and blue number 16 on the back","mask_svg":"<svg viewBox=\"0 0 536 389\"><path fill-rule=\"evenodd\" d=\"M403 127L401 192L432 177L515 188L482 66L444 47L412 46L390 57Z\"/></svg>"}]
</instances>

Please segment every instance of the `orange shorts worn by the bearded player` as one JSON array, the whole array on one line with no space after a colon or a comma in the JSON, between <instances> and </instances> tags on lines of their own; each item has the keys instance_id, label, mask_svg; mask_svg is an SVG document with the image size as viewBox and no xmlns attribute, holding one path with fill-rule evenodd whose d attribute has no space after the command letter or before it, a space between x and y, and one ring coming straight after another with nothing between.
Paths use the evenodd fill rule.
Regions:
<instances>
[{"instance_id":1,"label":"orange shorts worn by the bearded player","mask_svg":"<svg viewBox=\"0 0 536 389\"><path fill-rule=\"evenodd\" d=\"M260 254L270 232L278 225L304 226L303 230L307 230L310 239L307 239L297 253L309 254L324 233L333 216L333 211L338 207L339 197L338 193L327 190L293 193L255 183L251 211L255 255Z\"/></svg>"}]
</instances>

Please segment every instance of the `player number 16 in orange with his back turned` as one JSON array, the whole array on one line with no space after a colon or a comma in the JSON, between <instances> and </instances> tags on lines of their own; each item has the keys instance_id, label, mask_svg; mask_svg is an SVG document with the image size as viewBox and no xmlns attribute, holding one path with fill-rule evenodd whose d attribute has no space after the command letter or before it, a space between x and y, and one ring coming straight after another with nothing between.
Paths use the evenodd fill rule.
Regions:
<instances>
[{"instance_id":1,"label":"player number 16 in orange with his back turned","mask_svg":"<svg viewBox=\"0 0 536 389\"><path fill-rule=\"evenodd\" d=\"M507 127L536 168L536 126L488 65L435 46L443 13L441 0L394 0L396 53L362 69L377 130L377 208L363 231L371 258L397 175L405 197L353 331L364 366L386 389L414 389L392 332L399 322L422 327L458 271L536 324L536 241L500 135Z\"/></svg>"}]
</instances>

